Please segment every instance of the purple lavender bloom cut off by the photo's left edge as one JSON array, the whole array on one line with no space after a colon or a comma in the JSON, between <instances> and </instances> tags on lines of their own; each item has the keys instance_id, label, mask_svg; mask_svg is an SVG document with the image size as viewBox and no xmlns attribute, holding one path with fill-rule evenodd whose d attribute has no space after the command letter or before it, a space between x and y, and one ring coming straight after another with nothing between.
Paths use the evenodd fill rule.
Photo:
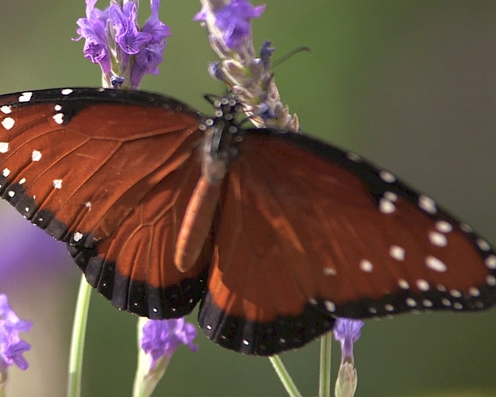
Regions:
<instances>
[{"instance_id":1,"label":"purple lavender bloom cut off by the photo's left edge","mask_svg":"<svg viewBox=\"0 0 496 397\"><path fill-rule=\"evenodd\" d=\"M26 370L28 362L22 356L31 345L19 337L19 332L27 332L32 324L20 320L8 305L7 297L0 294L0 372L5 372L8 366L17 365Z\"/></svg>"}]
</instances>

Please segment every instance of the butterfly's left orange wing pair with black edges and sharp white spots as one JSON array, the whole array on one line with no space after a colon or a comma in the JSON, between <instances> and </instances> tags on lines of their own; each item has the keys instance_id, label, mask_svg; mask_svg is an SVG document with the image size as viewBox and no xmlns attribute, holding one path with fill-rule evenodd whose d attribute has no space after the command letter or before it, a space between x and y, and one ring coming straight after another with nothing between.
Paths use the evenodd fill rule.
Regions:
<instances>
[{"instance_id":1,"label":"butterfly's left orange wing pair with black edges and sharp white spots","mask_svg":"<svg viewBox=\"0 0 496 397\"><path fill-rule=\"evenodd\" d=\"M1 196L67 242L118 308L152 318L190 312L208 246L186 273L172 258L200 175L200 116L169 98L101 89L12 94L0 109Z\"/></svg>"}]
</instances>

